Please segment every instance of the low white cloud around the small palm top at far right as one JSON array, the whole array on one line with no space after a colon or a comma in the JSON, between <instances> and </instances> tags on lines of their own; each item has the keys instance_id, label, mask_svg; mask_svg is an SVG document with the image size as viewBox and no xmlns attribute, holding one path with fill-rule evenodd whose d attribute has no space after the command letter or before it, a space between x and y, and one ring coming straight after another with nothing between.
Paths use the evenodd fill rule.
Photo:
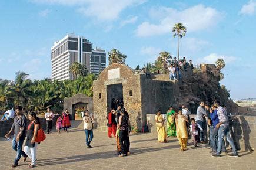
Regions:
<instances>
[{"instance_id":1,"label":"low white cloud around the small palm top at far right","mask_svg":"<svg viewBox=\"0 0 256 170\"><path fill-rule=\"evenodd\" d=\"M238 58L234 56L217 55L216 53L211 53L210 55L200 59L200 63L205 62L209 64L214 64L217 59L224 59L225 63L231 63L237 60Z\"/></svg>"}]
</instances>

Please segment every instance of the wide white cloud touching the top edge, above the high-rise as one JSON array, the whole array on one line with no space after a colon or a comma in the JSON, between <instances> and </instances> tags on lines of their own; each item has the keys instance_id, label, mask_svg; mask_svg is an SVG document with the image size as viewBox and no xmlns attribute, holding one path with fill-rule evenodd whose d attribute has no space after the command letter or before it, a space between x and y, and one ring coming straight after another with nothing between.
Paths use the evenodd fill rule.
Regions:
<instances>
[{"instance_id":1,"label":"wide white cloud touching the top edge, above the high-rise","mask_svg":"<svg viewBox=\"0 0 256 170\"><path fill-rule=\"evenodd\" d=\"M40 4L59 4L76 6L82 15L97 18L101 21L117 19L119 13L129 6L140 5L145 0L31 0Z\"/></svg>"}]
</instances>

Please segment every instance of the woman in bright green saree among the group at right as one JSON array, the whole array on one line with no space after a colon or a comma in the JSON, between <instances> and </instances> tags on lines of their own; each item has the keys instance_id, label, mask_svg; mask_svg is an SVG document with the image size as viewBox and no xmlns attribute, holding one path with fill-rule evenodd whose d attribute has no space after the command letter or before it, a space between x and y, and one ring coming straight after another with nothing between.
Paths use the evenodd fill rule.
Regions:
<instances>
[{"instance_id":1,"label":"woman in bright green saree among the group at right","mask_svg":"<svg viewBox=\"0 0 256 170\"><path fill-rule=\"evenodd\" d=\"M167 110L167 136L176 137L176 124L175 118L172 115L175 114L174 108L170 106Z\"/></svg>"}]
</instances>

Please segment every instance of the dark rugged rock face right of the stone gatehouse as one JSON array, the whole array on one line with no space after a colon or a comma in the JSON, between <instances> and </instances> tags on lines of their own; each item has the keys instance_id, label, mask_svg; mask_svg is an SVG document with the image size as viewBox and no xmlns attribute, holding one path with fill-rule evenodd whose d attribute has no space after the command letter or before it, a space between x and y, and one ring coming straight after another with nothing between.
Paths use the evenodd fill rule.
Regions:
<instances>
[{"instance_id":1,"label":"dark rugged rock face right of the stone gatehouse","mask_svg":"<svg viewBox=\"0 0 256 170\"><path fill-rule=\"evenodd\" d=\"M179 81L179 97L177 107L187 104L195 113L201 100L212 104L214 100L220 100L227 106L229 112L237 110L237 104L228 99L229 94L220 86L220 70L213 64L201 64L201 70L192 73L182 70L182 80ZM195 106L194 106L195 105Z\"/></svg>"}]
</instances>

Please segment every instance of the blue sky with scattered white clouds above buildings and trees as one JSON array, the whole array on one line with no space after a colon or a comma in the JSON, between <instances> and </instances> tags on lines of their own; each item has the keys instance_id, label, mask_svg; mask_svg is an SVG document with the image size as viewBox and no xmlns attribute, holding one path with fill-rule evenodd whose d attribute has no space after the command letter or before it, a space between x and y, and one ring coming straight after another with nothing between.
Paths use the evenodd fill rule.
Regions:
<instances>
[{"instance_id":1,"label":"blue sky with scattered white clouds above buildings and trees","mask_svg":"<svg viewBox=\"0 0 256 170\"><path fill-rule=\"evenodd\" d=\"M171 30L181 22L180 56L195 64L223 58L220 83L231 98L256 98L256 0L9 0L0 1L0 21L1 79L18 71L50 78L51 47L67 33L143 67L164 50L177 56Z\"/></svg>"}]
</instances>

